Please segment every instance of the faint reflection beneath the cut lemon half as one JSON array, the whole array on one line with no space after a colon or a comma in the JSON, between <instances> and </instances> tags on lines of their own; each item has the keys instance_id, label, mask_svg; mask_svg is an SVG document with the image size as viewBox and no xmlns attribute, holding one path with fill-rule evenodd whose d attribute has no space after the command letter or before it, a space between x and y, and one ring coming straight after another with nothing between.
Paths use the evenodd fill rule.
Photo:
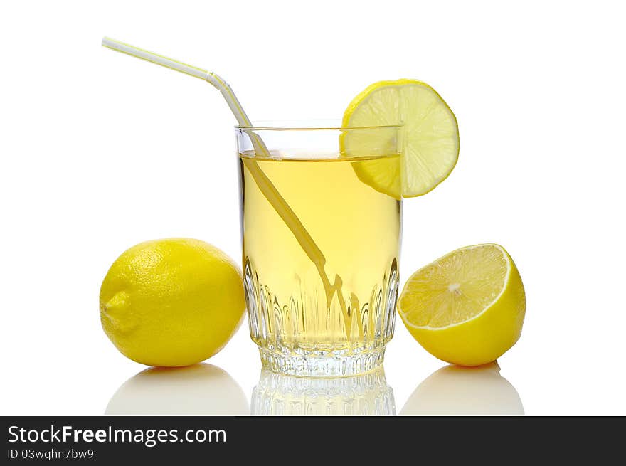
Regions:
<instances>
[{"instance_id":1,"label":"faint reflection beneath the cut lemon half","mask_svg":"<svg viewBox=\"0 0 626 466\"><path fill-rule=\"evenodd\" d=\"M445 366L425 379L400 415L524 415L514 386L497 362L479 367Z\"/></svg>"}]
</instances>

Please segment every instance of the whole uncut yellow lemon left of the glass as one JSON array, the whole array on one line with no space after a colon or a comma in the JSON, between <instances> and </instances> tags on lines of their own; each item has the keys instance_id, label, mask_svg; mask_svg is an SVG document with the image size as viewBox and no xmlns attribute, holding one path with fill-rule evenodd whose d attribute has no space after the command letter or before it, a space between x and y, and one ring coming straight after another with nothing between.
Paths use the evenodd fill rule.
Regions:
<instances>
[{"instance_id":1,"label":"whole uncut yellow lemon left of the glass","mask_svg":"<svg viewBox=\"0 0 626 466\"><path fill-rule=\"evenodd\" d=\"M115 260L100 288L105 333L124 356L149 366L188 366L213 356L244 309L240 270L200 240L135 245Z\"/></svg>"}]
</instances>

